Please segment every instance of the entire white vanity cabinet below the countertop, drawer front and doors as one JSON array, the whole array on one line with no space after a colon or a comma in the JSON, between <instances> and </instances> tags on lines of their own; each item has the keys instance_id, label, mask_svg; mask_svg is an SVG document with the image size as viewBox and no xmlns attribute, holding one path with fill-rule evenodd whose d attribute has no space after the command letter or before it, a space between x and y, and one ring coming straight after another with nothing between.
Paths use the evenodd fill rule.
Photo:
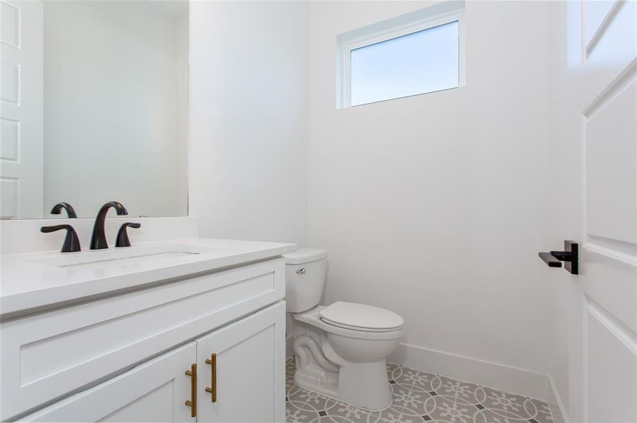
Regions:
<instances>
[{"instance_id":1,"label":"entire white vanity cabinet below the countertop, drawer front and doors","mask_svg":"<svg viewBox=\"0 0 637 423\"><path fill-rule=\"evenodd\" d=\"M2 321L1 420L283 422L284 275L278 257Z\"/></svg>"}]
</instances>

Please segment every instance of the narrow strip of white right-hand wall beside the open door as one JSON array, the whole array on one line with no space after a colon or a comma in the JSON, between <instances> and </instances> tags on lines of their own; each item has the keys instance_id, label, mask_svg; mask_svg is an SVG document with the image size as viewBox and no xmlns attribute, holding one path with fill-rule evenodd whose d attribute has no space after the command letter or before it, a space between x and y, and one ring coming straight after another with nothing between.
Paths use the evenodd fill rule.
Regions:
<instances>
[{"instance_id":1,"label":"narrow strip of white right-hand wall beside the open door","mask_svg":"<svg viewBox=\"0 0 637 423\"><path fill-rule=\"evenodd\" d=\"M579 99L581 87L581 8L577 2L568 4L556 1L550 4L548 25L549 51L548 73L550 75L550 221L549 242L560 246L564 239L581 238L581 189L572 183L581 173L582 135L573 128L581 128L582 116L575 113L572 99ZM571 24L569 24L571 23ZM571 62L574 61L574 62ZM571 63L569 63L571 62ZM576 66L572 66L576 63ZM583 398L578 398L577 387L569 386L571 369L573 376L582 374L583 363L569 362L569 343L577 338L576 331L583 333L581 317L572 310L580 309L581 287L579 279L565 271L550 272L550 335L549 374L555 385L559 401L573 422L583 416L577 410L583 407ZM576 304L574 306L574 304ZM581 345L576 345L581 348ZM574 377L574 381L576 380ZM572 393L572 395L571 395ZM553 404L555 407L557 404Z\"/></svg>"}]
</instances>

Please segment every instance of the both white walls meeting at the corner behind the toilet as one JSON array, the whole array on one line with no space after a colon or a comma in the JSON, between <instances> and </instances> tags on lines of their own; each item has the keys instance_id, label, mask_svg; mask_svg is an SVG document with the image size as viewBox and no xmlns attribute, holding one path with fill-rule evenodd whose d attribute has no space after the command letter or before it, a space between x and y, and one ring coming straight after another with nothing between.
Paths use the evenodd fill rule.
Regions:
<instances>
[{"instance_id":1,"label":"both white walls meeting at the corner behind the toilet","mask_svg":"<svg viewBox=\"0 0 637 423\"><path fill-rule=\"evenodd\" d=\"M407 344L546 374L548 5L469 2L466 86L335 109L336 35L427 5L193 2L190 214L326 247L326 301Z\"/></svg>"}]
</instances>

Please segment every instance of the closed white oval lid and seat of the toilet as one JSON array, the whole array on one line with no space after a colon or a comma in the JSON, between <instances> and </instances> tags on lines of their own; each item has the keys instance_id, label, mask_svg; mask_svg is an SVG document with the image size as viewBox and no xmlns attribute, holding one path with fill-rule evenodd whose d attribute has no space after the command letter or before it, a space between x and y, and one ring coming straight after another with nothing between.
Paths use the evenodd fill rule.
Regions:
<instances>
[{"instance_id":1,"label":"closed white oval lid and seat of the toilet","mask_svg":"<svg viewBox=\"0 0 637 423\"><path fill-rule=\"evenodd\" d=\"M356 302L337 301L321 309L321 319L328 324L359 331L395 331L404 320L398 314Z\"/></svg>"}]
</instances>

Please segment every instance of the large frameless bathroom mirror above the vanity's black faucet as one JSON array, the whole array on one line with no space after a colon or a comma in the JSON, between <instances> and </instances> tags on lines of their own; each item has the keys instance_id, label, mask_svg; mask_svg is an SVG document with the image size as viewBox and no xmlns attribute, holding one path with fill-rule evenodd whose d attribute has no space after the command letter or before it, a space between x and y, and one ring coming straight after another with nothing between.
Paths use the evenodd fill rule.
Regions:
<instances>
[{"instance_id":1,"label":"large frameless bathroom mirror above the vanity's black faucet","mask_svg":"<svg viewBox=\"0 0 637 423\"><path fill-rule=\"evenodd\" d=\"M187 1L15 5L1 2L2 218L59 218L57 202L92 218L111 200L187 215Z\"/></svg>"}]
</instances>

